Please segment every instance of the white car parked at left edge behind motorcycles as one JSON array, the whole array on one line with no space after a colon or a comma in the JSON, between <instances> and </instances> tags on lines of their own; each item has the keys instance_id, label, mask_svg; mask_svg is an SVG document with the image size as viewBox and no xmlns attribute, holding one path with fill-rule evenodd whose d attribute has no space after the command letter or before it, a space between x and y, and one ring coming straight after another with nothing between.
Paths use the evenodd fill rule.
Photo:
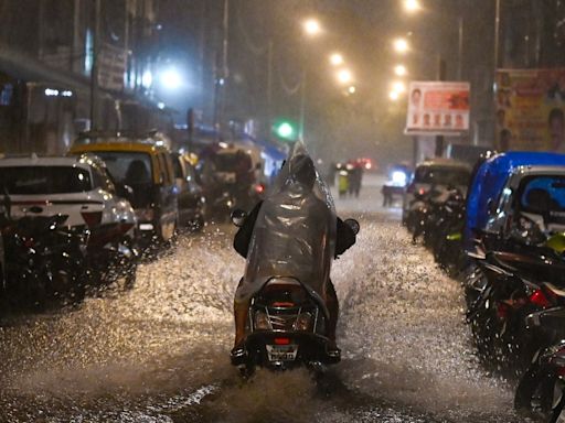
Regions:
<instances>
[{"instance_id":1,"label":"white car parked at left edge behind motorcycles","mask_svg":"<svg viewBox=\"0 0 565 423\"><path fill-rule=\"evenodd\" d=\"M7 194L13 219L61 214L68 226L131 225L134 238L134 209L96 156L0 159L0 202Z\"/></svg>"}]
</instances>

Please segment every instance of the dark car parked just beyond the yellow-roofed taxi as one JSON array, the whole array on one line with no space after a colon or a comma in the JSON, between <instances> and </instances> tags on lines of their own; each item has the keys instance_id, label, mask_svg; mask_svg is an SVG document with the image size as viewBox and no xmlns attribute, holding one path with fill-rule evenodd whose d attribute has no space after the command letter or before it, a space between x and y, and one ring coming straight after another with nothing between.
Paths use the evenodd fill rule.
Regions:
<instances>
[{"instance_id":1,"label":"dark car parked just beyond the yellow-roofed taxi","mask_svg":"<svg viewBox=\"0 0 565 423\"><path fill-rule=\"evenodd\" d=\"M171 153L179 195L179 224L201 229L205 223L206 199L190 158Z\"/></svg>"}]
</instances>

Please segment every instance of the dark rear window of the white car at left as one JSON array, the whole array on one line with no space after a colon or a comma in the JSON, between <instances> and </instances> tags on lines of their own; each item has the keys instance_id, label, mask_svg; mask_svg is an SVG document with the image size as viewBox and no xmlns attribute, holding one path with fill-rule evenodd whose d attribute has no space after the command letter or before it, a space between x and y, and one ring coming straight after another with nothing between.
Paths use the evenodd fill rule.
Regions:
<instances>
[{"instance_id":1,"label":"dark rear window of the white car at left","mask_svg":"<svg viewBox=\"0 0 565 423\"><path fill-rule=\"evenodd\" d=\"M0 189L15 195L71 194L92 189L87 170L74 166L2 166Z\"/></svg>"}]
</instances>

